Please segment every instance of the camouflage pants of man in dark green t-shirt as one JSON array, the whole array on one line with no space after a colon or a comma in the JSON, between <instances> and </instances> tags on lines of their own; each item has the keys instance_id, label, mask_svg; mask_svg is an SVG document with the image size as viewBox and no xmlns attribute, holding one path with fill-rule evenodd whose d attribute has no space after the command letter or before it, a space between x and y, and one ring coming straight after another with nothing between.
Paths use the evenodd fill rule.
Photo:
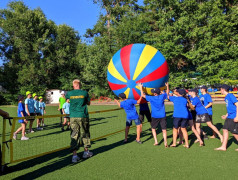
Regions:
<instances>
[{"instance_id":1,"label":"camouflage pants of man in dark green t-shirt","mask_svg":"<svg viewBox=\"0 0 238 180\"><path fill-rule=\"evenodd\" d=\"M71 143L70 151L78 150L80 146L84 148L91 147L89 119L88 118L70 118Z\"/></svg>"}]
</instances>

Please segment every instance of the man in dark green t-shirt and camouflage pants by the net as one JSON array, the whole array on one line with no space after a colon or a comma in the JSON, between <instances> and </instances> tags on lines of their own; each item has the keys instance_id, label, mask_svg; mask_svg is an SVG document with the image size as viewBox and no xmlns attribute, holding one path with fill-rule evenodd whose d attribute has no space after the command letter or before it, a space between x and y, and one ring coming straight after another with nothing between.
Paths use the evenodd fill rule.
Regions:
<instances>
[{"instance_id":1,"label":"man in dark green t-shirt and camouflage pants by the net","mask_svg":"<svg viewBox=\"0 0 238 180\"><path fill-rule=\"evenodd\" d=\"M89 132L88 107L90 98L87 91L80 89L80 81L73 81L74 90L67 92L66 98L70 99L70 126L71 126L71 144L70 150L73 152L72 162L79 161L77 150L80 145L84 145L83 158L89 158L93 155L88 150L91 147Z\"/></svg>"}]
</instances>

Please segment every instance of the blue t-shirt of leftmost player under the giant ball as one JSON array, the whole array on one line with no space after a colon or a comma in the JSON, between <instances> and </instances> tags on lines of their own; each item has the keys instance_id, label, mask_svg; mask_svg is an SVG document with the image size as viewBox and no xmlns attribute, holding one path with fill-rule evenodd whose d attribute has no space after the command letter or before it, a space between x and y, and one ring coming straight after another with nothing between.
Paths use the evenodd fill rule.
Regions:
<instances>
[{"instance_id":1,"label":"blue t-shirt of leftmost player under the giant ball","mask_svg":"<svg viewBox=\"0 0 238 180\"><path fill-rule=\"evenodd\" d=\"M139 118L135 104L137 104L137 101L134 99L127 99L120 103L121 108L125 109L126 118L128 120L135 120Z\"/></svg>"}]
</instances>

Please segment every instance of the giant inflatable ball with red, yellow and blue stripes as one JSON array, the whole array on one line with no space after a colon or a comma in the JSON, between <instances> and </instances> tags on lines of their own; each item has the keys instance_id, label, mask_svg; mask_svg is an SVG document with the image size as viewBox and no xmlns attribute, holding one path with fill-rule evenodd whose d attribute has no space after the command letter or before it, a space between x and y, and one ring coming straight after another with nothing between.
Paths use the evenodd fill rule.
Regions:
<instances>
[{"instance_id":1,"label":"giant inflatable ball with red, yellow and blue stripes","mask_svg":"<svg viewBox=\"0 0 238 180\"><path fill-rule=\"evenodd\" d=\"M169 68L164 56L154 47L146 44L130 44L121 48L112 57L107 71L107 80L118 96L139 99L137 83L143 83L145 91L164 87L169 78Z\"/></svg>"}]
</instances>

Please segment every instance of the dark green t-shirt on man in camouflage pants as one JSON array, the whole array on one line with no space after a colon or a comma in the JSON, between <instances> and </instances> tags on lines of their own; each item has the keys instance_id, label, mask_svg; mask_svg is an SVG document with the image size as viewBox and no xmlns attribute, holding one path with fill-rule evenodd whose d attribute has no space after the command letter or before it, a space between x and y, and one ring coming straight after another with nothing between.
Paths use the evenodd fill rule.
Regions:
<instances>
[{"instance_id":1,"label":"dark green t-shirt on man in camouflage pants","mask_svg":"<svg viewBox=\"0 0 238 180\"><path fill-rule=\"evenodd\" d=\"M66 98L70 99L70 117L88 118L87 103L90 102L88 92L76 89L67 92Z\"/></svg>"}]
</instances>

